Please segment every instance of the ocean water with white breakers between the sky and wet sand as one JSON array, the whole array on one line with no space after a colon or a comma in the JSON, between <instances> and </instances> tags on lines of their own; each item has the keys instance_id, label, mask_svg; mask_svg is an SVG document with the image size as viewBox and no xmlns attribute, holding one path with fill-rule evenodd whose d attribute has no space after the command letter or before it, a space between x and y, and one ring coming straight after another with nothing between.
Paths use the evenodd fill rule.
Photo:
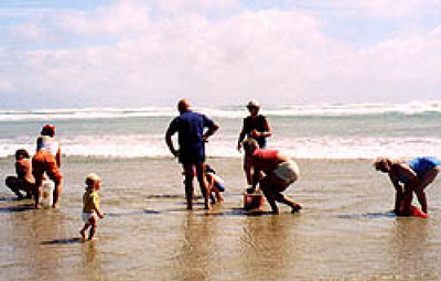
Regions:
<instances>
[{"instance_id":1,"label":"ocean water with white breakers between the sky and wet sand","mask_svg":"<svg viewBox=\"0 0 441 281\"><path fill-rule=\"evenodd\" d=\"M207 155L239 158L245 107L195 107L219 126ZM441 101L342 104L262 108L269 148L297 159L441 156ZM42 125L54 123L66 156L169 156L164 131L175 107L0 111L0 158L33 151Z\"/></svg>"}]
</instances>

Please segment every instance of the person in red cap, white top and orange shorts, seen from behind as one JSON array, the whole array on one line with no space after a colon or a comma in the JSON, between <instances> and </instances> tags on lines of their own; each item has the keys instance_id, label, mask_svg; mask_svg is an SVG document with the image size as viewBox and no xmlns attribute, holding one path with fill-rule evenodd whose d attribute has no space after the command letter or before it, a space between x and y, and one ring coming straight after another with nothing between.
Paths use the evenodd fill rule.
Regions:
<instances>
[{"instance_id":1,"label":"person in red cap, white top and orange shorts, seen from behind","mask_svg":"<svg viewBox=\"0 0 441 281\"><path fill-rule=\"evenodd\" d=\"M41 136L36 139L36 153L32 158L32 172L35 177L35 208L40 208L40 190L43 184L44 173L55 183L53 207L58 207L62 196L63 175L60 172L62 164L61 144L55 140L55 127L45 125Z\"/></svg>"}]
</instances>

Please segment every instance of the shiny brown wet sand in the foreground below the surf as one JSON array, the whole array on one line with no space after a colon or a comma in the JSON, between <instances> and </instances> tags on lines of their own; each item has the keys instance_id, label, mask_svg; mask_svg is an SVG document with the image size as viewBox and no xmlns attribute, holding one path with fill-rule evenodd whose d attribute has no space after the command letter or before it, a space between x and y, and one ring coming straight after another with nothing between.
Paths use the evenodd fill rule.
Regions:
<instances>
[{"instance_id":1,"label":"shiny brown wet sand in the foreground below the surf","mask_svg":"<svg viewBox=\"0 0 441 281\"><path fill-rule=\"evenodd\" d=\"M241 209L239 159L208 161L225 203L185 210L171 159L65 159L58 210L30 208L0 188L0 280L440 280L440 179L430 219L397 218L394 191L368 161L300 160L286 194L298 214ZM1 177L13 172L0 160ZM104 179L97 241L78 239L84 177ZM269 206L265 206L269 210Z\"/></svg>"}]
</instances>

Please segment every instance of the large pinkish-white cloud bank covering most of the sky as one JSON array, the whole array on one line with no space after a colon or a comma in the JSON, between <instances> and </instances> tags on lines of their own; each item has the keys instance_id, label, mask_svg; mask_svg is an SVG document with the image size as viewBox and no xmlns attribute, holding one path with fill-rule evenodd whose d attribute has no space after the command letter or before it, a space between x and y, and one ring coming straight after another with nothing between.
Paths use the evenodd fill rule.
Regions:
<instances>
[{"instance_id":1,"label":"large pinkish-white cloud bank covering most of the sky","mask_svg":"<svg viewBox=\"0 0 441 281\"><path fill-rule=\"evenodd\" d=\"M155 13L159 3L162 11L173 6L173 13ZM439 97L441 25L359 46L330 37L320 13L301 9L243 9L223 18L204 12L237 4L118 1L20 23L17 30L46 45L0 50L0 93L26 93L20 102L31 107L36 100L63 107L174 105L183 96L205 105ZM376 9L380 14L383 8ZM60 41L39 34L50 26L52 35L63 33ZM73 37L80 44L69 44Z\"/></svg>"}]
</instances>

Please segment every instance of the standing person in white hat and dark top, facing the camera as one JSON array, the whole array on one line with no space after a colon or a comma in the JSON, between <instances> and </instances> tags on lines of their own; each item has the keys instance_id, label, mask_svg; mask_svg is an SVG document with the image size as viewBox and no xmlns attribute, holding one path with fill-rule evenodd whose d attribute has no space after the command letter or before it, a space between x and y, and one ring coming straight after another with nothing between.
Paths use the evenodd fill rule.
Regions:
<instances>
[{"instance_id":1,"label":"standing person in white hat and dark top, facing the camera","mask_svg":"<svg viewBox=\"0 0 441 281\"><path fill-rule=\"evenodd\" d=\"M251 99L247 105L249 116L244 118L244 125L239 133L237 141L237 150L240 151L241 142L245 137L252 138L259 144L259 148L267 147L267 138L271 137L271 127L268 125L267 117L259 115L260 104L257 100ZM247 176L247 183L251 184L252 171L247 166L249 161L244 158L244 171Z\"/></svg>"}]
</instances>

